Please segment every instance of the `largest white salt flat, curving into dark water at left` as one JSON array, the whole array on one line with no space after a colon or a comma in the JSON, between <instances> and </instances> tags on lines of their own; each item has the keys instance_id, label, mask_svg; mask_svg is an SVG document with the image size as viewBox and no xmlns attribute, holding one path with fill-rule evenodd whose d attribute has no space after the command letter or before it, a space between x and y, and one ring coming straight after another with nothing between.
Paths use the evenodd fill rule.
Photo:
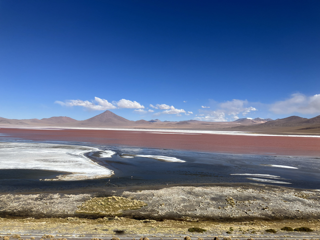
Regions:
<instances>
[{"instance_id":1,"label":"largest white salt flat, curving into dark water at left","mask_svg":"<svg viewBox=\"0 0 320 240\"><path fill-rule=\"evenodd\" d=\"M98 148L46 143L0 143L0 169L39 169L71 174L53 180L105 178L113 171L84 156ZM110 154L110 153L109 153Z\"/></svg>"}]
</instances>

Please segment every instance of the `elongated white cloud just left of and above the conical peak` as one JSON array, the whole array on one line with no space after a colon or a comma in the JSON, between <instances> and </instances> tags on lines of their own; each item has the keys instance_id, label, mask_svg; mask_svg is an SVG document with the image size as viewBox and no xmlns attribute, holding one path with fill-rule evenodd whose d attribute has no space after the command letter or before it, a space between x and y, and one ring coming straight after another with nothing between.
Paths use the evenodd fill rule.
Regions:
<instances>
[{"instance_id":1,"label":"elongated white cloud just left of and above the conical peak","mask_svg":"<svg viewBox=\"0 0 320 240\"><path fill-rule=\"evenodd\" d=\"M62 102L62 101L55 101L54 103L58 103L61 106L67 106L67 107L72 107L72 106L82 106L84 108L90 109L90 110L108 110L108 109L115 109L117 108L116 106L114 106L112 103L108 102L108 100L105 99L101 99L98 97L95 97L94 100L98 103L95 104L88 100L68 100L66 102Z\"/></svg>"}]
</instances>

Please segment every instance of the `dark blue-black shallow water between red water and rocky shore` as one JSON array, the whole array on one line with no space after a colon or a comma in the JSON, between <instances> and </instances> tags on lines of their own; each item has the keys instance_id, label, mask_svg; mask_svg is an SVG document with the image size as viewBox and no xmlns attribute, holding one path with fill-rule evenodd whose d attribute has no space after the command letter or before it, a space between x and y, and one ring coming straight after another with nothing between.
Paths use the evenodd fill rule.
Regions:
<instances>
[{"instance_id":1,"label":"dark blue-black shallow water between red water and rocky shore","mask_svg":"<svg viewBox=\"0 0 320 240\"><path fill-rule=\"evenodd\" d=\"M94 152L87 154L89 158L97 161L100 165L113 170L115 175L111 178L97 180L39 181L39 179L54 178L62 173L43 170L0 170L0 192L56 192L75 190L81 192L94 191L101 188L237 182L255 182L291 188L320 188L320 158L316 157L201 153L170 149L101 146L90 143L60 143L92 146L101 150L115 151L116 154L111 158L100 158ZM119 156L122 154L172 156L186 162L164 162L146 157L122 158ZM261 164L286 165L297 167L298 169L272 167ZM243 173L270 174L280 176L280 178L230 175ZM277 180L290 184L259 182L249 180L247 179L248 177Z\"/></svg>"}]
</instances>

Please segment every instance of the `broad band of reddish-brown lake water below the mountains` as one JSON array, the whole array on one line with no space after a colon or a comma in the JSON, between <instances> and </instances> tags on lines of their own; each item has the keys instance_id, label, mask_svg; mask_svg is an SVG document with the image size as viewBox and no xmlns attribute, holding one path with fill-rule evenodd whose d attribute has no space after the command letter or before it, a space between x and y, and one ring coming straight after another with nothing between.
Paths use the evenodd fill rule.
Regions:
<instances>
[{"instance_id":1,"label":"broad band of reddish-brown lake water below the mountains","mask_svg":"<svg viewBox=\"0 0 320 240\"><path fill-rule=\"evenodd\" d=\"M152 132L152 130L150 130ZM0 128L11 137L36 141L91 142L145 148L166 148L240 154L319 156L320 138L289 136L241 136L219 134L156 134L123 130L39 130Z\"/></svg>"}]
</instances>

